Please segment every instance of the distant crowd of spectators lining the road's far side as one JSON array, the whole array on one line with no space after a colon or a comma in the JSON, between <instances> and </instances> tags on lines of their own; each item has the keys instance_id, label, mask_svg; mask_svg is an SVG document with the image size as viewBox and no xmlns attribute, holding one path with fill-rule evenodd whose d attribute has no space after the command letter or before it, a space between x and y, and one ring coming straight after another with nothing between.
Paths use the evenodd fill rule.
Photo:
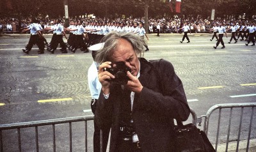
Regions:
<instances>
[{"instance_id":1,"label":"distant crowd of spectators lining the road's far side","mask_svg":"<svg viewBox=\"0 0 256 152\"><path fill-rule=\"evenodd\" d=\"M49 17L40 17L38 18L40 20L40 24L43 28L47 28L51 26L56 19L50 19ZM63 22L65 22L64 19ZM88 23L92 22L104 22L108 24L109 22L116 22L116 23L122 23L124 25L130 25L134 22L142 22L144 23L145 20L143 18L126 18L123 19L122 17L116 18L116 19L107 19L107 18L89 18L89 17L79 17L77 19L70 18L70 21L74 20L83 20L83 26L85 26ZM159 29L160 33L179 33L180 28L183 26L184 22L188 23L188 26L191 29L191 33L205 33L209 32L209 29L211 29L211 25L216 23L225 23L225 26L229 28L231 24L239 24L243 22L244 24L248 22L252 22L252 20L236 20L236 19L221 19L216 18L216 20L213 20L211 22L210 19L202 19L200 16L198 17L188 17L186 19L180 19L177 15L174 15L173 17L161 17L159 19L156 19L154 17L149 17L148 19L148 27L149 31L148 33L156 33L157 29ZM19 19L11 18L11 17L2 17L0 18L0 33L20 33L20 28L26 27L29 24L29 18L22 18Z\"/></svg>"}]
</instances>

